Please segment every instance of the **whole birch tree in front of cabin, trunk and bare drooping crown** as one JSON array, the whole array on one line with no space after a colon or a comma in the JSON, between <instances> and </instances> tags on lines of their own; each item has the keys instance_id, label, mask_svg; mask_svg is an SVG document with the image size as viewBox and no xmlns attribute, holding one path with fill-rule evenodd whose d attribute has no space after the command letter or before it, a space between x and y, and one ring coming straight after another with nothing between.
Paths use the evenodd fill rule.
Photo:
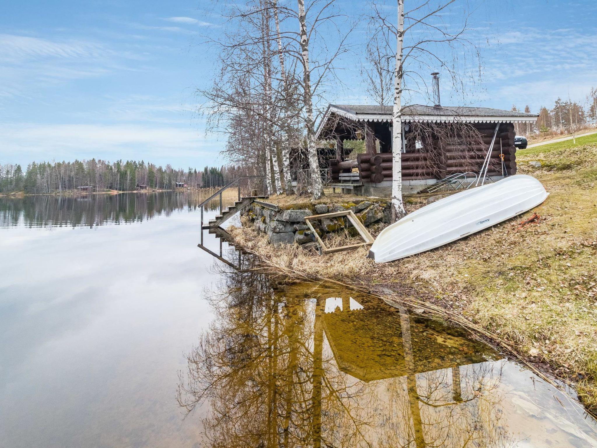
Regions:
<instances>
[{"instance_id":1,"label":"whole birch tree in front of cabin, trunk and bare drooping crown","mask_svg":"<svg viewBox=\"0 0 597 448\"><path fill-rule=\"evenodd\" d=\"M479 0L481 2L482 0ZM405 11L405 3L411 8ZM397 0L398 20L387 13L390 4L371 4L368 16L370 41L368 66L370 79L386 78L393 85L392 108L392 219L404 216L402 201L402 110L405 93L432 103L433 88L428 73L440 71L451 83L451 93L470 93L480 79L481 61L475 42L470 39L469 19L474 7L466 0ZM461 5L461 10L456 7ZM442 16L458 17L450 21ZM387 59L395 59L393 70ZM369 89L371 92L371 88ZM379 94L374 92L374 97Z\"/></svg>"}]
</instances>

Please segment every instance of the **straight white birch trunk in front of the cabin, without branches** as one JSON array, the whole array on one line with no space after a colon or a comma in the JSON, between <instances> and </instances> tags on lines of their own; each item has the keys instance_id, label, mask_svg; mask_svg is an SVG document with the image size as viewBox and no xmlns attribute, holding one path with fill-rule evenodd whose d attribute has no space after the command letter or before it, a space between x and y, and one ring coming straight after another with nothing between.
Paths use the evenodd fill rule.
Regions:
<instances>
[{"instance_id":1,"label":"straight white birch trunk in front of the cabin, without branches","mask_svg":"<svg viewBox=\"0 0 597 448\"><path fill-rule=\"evenodd\" d=\"M404 0L398 0L398 36L392 110L392 222L406 214L402 202L402 45L404 42Z\"/></svg>"}]
</instances>

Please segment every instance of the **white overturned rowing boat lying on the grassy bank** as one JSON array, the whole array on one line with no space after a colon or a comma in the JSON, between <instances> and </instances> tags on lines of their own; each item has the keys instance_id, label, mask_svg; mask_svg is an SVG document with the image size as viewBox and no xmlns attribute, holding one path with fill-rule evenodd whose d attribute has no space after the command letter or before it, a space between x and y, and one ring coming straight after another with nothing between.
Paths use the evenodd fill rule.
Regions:
<instances>
[{"instance_id":1,"label":"white overturned rowing boat lying on the grassy bank","mask_svg":"<svg viewBox=\"0 0 597 448\"><path fill-rule=\"evenodd\" d=\"M444 246L524 213L547 195L541 182L524 174L456 193L383 229L369 256L383 263Z\"/></svg>"}]
</instances>

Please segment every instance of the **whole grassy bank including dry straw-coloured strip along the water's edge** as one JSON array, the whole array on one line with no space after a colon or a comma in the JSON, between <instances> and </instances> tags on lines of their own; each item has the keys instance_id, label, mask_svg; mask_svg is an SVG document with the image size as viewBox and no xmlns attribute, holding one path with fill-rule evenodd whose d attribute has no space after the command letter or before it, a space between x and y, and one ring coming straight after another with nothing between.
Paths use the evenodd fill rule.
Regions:
<instances>
[{"instance_id":1,"label":"whole grassy bank including dry straw-coloured strip along the water's edge","mask_svg":"<svg viewBox=\"0 0 597 448\"><path fill-rule=\"evenodd\" d=\"M230 228L229 233L275 275L340 282L390 299L406 297L419 309L450 318L543 376L573 386L594 413L597 136L578 139L576 146L561 142L519 151L517 158L520 172L537 177L550 192L543 204L398 262L376 265L366 258L365 248L324 256L297 246L272 251L265 235L251 228ZM534 212L540 219L519 225Z\"/></svg>"}]
</instances>

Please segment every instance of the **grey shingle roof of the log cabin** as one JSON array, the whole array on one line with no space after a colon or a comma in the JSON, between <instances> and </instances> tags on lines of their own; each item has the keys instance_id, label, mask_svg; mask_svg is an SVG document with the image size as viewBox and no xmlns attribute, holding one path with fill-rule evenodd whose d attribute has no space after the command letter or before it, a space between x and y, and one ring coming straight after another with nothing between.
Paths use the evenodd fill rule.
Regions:
<instances>
[{"instance_id":1,"label":"grey shingle roof of the log cabin","mask_svg":"<svg viewBox=\"0 0 597 448\"><path fill-rule=\"evenodd\" d=\"M353 112L355 115L388 115L392 116L392 106L368 106L368 105L330 105ZM533 113L504 111L503 109L472 108L466 106L444 106L435 108L433 106L410 105L404 106L402 115L441 115L441 116L528 116L536 117ZM365 118L365 117L363 117Z\"/></svg>"}]
</instances>

